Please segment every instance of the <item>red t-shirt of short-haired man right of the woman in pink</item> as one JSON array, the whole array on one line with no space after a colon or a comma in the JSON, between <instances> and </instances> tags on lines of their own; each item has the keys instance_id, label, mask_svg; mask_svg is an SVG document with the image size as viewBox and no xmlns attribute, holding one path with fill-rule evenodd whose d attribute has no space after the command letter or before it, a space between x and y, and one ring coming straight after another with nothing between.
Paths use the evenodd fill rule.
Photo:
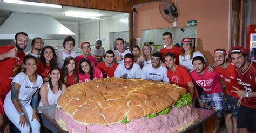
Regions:
<instances>
[{"instance_id":1,"label":"red t-shirt of short-haired man right of the woman in pink","mask_svg":"<svg viewBox=\"0 0 256 133\"><path fill-rule=\"evenodd\" d=\"M106 67L105 62L102 62L102 63L99 63L97 67L102 71L103 78L106 78L106 77L112 78L114 77L114 71L116 70L117 65L118 65L117 63L114 63L112 67Z\"/></svg>"}]
</instances>

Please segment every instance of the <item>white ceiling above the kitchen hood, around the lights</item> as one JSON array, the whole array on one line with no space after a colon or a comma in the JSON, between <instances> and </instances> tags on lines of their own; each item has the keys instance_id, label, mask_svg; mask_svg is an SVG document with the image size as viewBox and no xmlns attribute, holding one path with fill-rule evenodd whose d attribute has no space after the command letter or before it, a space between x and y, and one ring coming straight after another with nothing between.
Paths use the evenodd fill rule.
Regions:
<instances>
[{"instance_id":1,"label":"white ceiling above the kitchen hood, around the lights","mask_svg":"<svg viewBox=\"0 0 256 133\"><path fill-rule=\"evenodd\" d=\"M113 11L104 11L97 9L87 9L87 8L76 8L72 6L63 6L63 8L47 8L43 6L33 6L33 5L22 5L22 4L12 4L12 3L3 3L0 0L0 24L1 21L4 21L6 17L9 16L11 12L21 12L21 13L33 13L33 14L47 14L58 21L64 22L82 22L91 19L86 18L76 18L64 16L64 12L87 12L87 13L97 13L101 14L99 18L111 17L124 12L113 12Z\"/></svg>"}]
</instances>

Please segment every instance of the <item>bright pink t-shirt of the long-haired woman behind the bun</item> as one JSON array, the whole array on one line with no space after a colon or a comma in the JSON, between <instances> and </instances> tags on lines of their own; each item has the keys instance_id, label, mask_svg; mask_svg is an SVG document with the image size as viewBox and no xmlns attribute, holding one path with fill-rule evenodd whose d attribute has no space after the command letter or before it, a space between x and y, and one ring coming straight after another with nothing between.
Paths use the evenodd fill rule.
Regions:
<instances>
[{"instance_id":1,"label":"bright pink t-shirt of the long-haired woman behind the bun","mask_svg":"<svg viewBox=\"0 0 256 133\"><path fill-rule=\"evenodd\" d=\"M93 68L93 79L99 79L99 78L103 78L102 72L100 71L99 68ZM88 76L86 73L82 74L79 73L79 83L81 82L89 82L90 76Z\"/></svg>"}]
</instances>

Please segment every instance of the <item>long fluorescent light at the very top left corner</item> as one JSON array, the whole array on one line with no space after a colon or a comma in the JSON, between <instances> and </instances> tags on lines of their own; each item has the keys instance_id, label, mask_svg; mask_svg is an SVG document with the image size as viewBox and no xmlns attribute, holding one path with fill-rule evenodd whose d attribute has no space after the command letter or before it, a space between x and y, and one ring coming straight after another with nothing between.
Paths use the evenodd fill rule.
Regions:
<instances>
[{"instance_id":1,"label":"long fluorescent light at the very top left corner","mask_svg":"<svg viewBox=\"0 0 256 133\"><path fill-rule=\"evenodd\" d=\"M25 2L19 0L3 0L5 3L15 3L15 4L24 4L24 5L36 5L36 6L46 6L50 8L62 8L62 5L56 4L45 4L45 3L37 3L37 2Z\"/></svg>"}]
</instances>

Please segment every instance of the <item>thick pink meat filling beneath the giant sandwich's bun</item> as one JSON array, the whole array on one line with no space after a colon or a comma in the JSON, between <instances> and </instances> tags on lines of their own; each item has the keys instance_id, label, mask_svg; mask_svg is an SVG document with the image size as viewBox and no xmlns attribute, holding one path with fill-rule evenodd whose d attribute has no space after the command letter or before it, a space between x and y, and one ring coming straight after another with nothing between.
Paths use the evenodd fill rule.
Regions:
<instances>
[{"instance_id":1,"label":"thick pink meat filling beneath the giant sandwich's bun","mask_svg":"<svg viewBox=\"0 0 256 133\"><path fill-rule=\"evenodd\" d=\"M65 121L65 128L69 132L174 132L197 121L198 114L196 109L185 106L183 108L172 108L167 115L159 115L152 119L142 117L127 124L82 125L66 115L64 110L57 109L55 119L57 123L60 119Z\"/></svg>"}]
</instances>

